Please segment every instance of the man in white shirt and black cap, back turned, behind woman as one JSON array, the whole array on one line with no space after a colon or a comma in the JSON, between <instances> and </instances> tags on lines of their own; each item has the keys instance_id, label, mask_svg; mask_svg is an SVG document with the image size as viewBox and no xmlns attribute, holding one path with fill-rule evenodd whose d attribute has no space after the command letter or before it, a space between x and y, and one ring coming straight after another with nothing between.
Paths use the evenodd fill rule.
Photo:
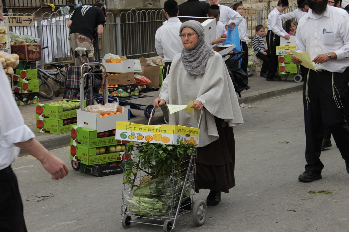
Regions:
<instances>
[{"instance_id":1,"label":"man in white shirt and black cap, back turned, behind woman","mask_svg":"<svg viewBox=\"0 0 349 232\"><path fill-rule=\"evenodd\" d=\"M167 23L159 27L155 33L155 48L159 56L164 58L162 79L170 71L172 59L183 49L182 40L179 37L179 29L182 24L179 21L178 3L175 0L167 0L164 3L164 14Z\"/></svg>"}]
</instances>

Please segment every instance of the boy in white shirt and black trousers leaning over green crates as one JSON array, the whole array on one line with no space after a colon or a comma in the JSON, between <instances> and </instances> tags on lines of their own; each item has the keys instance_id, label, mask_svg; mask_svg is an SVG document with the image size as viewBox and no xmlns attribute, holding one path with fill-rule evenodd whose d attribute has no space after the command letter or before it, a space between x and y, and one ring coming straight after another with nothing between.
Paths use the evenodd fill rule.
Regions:
<instances>
[{"instance_id":1,"label":"boy in white shirt and black trousers leaning over green crates","mask_svg":"<svg viewBox=\"0 0 349 232\"><path fill-rule=\"evenodd\" d=\"M269 50L269 67L267 73L267 81L281 81L281 77L276 74L277 71L277 55L276 46L280 46L280 36L289 40L290 35L283 30L280 13L288 8L288 0L279 0L274 10L268 15L267 27L267 45Z\"/></svg>"}]
</instances>

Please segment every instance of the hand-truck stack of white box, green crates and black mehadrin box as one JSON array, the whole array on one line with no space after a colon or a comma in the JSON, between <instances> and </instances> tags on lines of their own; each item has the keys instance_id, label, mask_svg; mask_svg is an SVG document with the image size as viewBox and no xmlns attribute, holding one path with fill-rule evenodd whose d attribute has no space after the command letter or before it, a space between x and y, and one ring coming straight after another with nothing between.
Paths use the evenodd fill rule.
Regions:
<instances>
[{"instance_id":1,"label":"hand-truck stack of white box, green crates and black mehadrin box","mask_svg":"<svg viewBox=\"0 0 349 232\"><path fill-rule=\"evenodd\" d=\"M99 113L77 112L77 125L70 126L70 159L74 170L94 176L124 172L124 160L130 155L125 153L126 141L115 139L115 132L116 121L127 120L128 111L118 106L117 112L106 117Z\"/></svg>"}]
</instances>

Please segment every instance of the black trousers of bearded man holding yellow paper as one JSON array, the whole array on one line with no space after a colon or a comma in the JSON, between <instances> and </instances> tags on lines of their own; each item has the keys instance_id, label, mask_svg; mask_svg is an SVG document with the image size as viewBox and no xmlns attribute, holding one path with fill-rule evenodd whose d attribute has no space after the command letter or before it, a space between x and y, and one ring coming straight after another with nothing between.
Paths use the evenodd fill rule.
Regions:
<instances>
[{"instance_id":1,"label":"black trousers of bearded man holding yellow paper","mask_svg":"<svg viewBox=\"0 0 349 232\"><path fill-rule=\"evenodd\" d=\"M308 69L306 69L307 71ZM307 162L305 170L321 172L324 168L320 161L324 124L331 128L334 141L342 158L349 160L349 128L344 111L348 81L348 68L343 73L333 73L336 102L332 97L332 72L324 71L317 74L310 70L309 80L304 80L305 160ZM307 83L308 88L306 88ZM306 96L309 97L308 101Z\"/></svg>"}]
</instances>

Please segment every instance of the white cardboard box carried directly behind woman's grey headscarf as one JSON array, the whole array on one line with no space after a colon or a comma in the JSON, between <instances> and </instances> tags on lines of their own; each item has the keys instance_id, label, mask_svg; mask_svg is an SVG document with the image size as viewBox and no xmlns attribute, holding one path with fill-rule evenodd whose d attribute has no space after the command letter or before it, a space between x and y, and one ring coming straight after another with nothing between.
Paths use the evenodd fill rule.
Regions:
<instances>
[{"instance_id":1,"label":"white cardboard box carried directly behind woman's grey headscarf","mask_svg":"<svg viewBox=\"0 0 349 232\"><path fill-rule=\"evenodd\" d=\"M205 17L189 17L189 16L178 16L180 22L186 22L188 20L196 20L201 23L203 30L205 31L205 40L211 45L211 42L216 38L216 19L205 18ZM179 33L178 33L179 35Z\"/></svg>"}]
</instances>

